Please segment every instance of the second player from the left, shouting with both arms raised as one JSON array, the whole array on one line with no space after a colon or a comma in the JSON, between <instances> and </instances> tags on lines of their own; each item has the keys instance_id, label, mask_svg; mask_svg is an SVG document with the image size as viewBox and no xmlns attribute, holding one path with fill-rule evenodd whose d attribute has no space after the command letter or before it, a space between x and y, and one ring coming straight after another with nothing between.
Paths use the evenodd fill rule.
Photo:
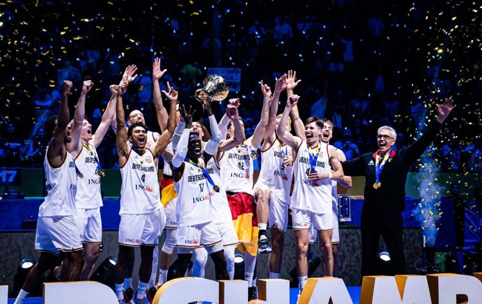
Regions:
<instances>
[{"instance_id":1,"label":"second player from the left, shouting with both arms raised","mask_svg":"<svg viewBox=\"0 0 482 304\"><path fill-rule=\"evenodd\" d=\"M110 86L112 96L107 103L95 134L92 134L92 125L87 119L83 118L85 102L77 104L71 134L72 140L79 136L78 144L75 147L72 145L67 146L69 152L76 156L75 164L82 172L82 177L77 180L77 193L75 195L75 205L77 207L75 221L84 246L84 267L80 273L80 281L89 280L94 264L100 255L100 244L102 243L100 178L105 175L105 171L100 166L96 148L102 142L109 125L112 123L117 90L117 85ZM80 121L82 122L79 124ZM77 125L80 125L81 129L77 128Z\"/></svg>"}]
</instances>

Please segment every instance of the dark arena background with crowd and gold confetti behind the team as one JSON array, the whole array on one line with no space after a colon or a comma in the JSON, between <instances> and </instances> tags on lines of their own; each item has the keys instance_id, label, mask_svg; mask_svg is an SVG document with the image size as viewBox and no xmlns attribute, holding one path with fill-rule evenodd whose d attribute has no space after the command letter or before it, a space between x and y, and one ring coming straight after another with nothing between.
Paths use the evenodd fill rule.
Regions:
<instances>
[{"instance_id":1,"label":"dark arena background with crowd and gold confetti behind the team","mask_svg":"<svg viewBox=\"0 0 482 304\"><path fill-rule=\"evenodd\" d=\"M0 285L8 285L8 298L13 298L8 303L39 257L33 250L35 227L46 195L43 161L51 138L43 124L58 113L63 80L73 82L71 117L82 81L94 83L85 103L94 133L110 98L109 85L119 83L128 65L137 65L138 76L123 95L125 111L142 111L151 130L160 132L153 104L156 57L161 70L167 69L159 80L161 90L168 90L169 81L180 99L202 88L207 75L223 76L229 97L213 102L213 111L219 121L228 99L240 98L246 138L260 120L260 81L274 91L279 77L296 71L300 117L331 120L331 144L347 160L377 151L377 129L384 125L396 130L394 150L410 146L436 118L436 104L452 97L457 107L409 170L403 213L407 274L481 273L481 10L481 3L471 0L2 1ZM278 114L286 99L282 92L276 100ZM169 107L166 98L164 106ZM209 128L207 115L204 125ZM106 176L101 182L103 246L95 274L111 288L113 268L102 263L115 259L118 251L121 176L115 137L109 129L97 148ZM261 166L257 158L254 181ZM338 192L351 208L340 222L338 278L353 303L360 302L362 283L364 186L363 176L353 177L352 188ZM290 225L280 278L290 281L290 303L296 303ZM160 248L165 238L163 233ZM379 252L388 259L380 259L379 273L389 274L383 241ZM320 258L314 246L310 277L322 277ZM24 259L32 263L23 265ZM215 280L211 260L206 278ZM269 278L268 255L258 255L256 278ZM41 282L58 279L49 271ZM30 297L25 303L41 303L36 298L42 297L40 284Z\"/></svg>"}]
</instances>

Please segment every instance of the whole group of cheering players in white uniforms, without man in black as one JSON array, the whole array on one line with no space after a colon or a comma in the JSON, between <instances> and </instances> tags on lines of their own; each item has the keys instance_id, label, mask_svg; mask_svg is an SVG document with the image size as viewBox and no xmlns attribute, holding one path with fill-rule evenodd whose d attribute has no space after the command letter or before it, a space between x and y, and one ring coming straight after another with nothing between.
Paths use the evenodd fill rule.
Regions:
<instances>
[{"instance_id":1,"label":"whole group of cheering players in white uniforms, without man in black","mask_svg":"<svg viewBox=\"0 0 482 304\"><path fill-rule=\"evenodd\" d=\"M73 84L64 81L58 116L49 119L45 127L52 140L44 161L48 194L39 208L35 237L40 259L15 304L24 303L43 273L56 265L60 253L61 280L85 281L92 275L102 242L100 181L105 175L96 148L109 127L116 132L122 177L115 266L115 293L120 304L152 302L157 288L167 281L174 249L178 255L174 278L187 274L193 255L192 276L204 277L209 255L217 278L232 280L238 248L244 255L248 300L255 299L256 255L269 253L269 278L280 277L289 216L300 291L308 276L309 244L319 242L323 275L333 276L339 243L337 183L349 188L351 178L343 174L343 152L329 145L333 124L317 117L309 117L304 124L300 120L296 106L299 96L293 94L300 81L295 80L296 73L288 71L279 77L273 93L261 81L260 121L252 136L245 138L239 98L229 100L218 123L211 98L200 95L211 134L202 123L193 121L196 110L179 106L178 92L169 82L168 91L162 94L170 106L164 108L159 80L166 70L161 70L158 58L153 63L152 80L161 134L148 130L138 110L126 121L122 96L136 70L135 65L128 66L120 83L110 86L112 96L95 134L84 118L86 95L93 83L83 82L74 119L69 122L67 99ZM288 96L286 107L276 115L283 90ZM291 134L291 124L296 136ZM262 164L253 184L253 160L260 145ZM160 157L164 161L161 181ZM158 242L164 229L166 240L159 257ZM138 246L139 284L133 293L134 248Z\"/></svg>"}]
</instances>

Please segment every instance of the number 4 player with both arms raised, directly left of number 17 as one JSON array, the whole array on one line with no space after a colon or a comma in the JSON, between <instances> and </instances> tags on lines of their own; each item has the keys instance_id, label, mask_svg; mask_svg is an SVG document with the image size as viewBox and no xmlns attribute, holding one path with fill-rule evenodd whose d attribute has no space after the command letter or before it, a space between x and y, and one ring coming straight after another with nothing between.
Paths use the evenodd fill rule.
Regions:
<instances>
[{"instance_id":1,"label":"number 4 player with both arms raised, directly left of number 17","mask_svg":"<svg viewBox=\"0 0 482 304\"><path fill-rule=\"evenodd\" d=\"M122 176L121 222L119 224L119 254L117 257L116 295L119 303L124 301L125 267L132 260L134 247L141 247L141 266L137 296L132 303L145 303L148 281L152 273L153 250L159 242L159 235L165 225L165 212L162 208L157 176L157 163L174 132L175 116L170 117L168 128L150 148L147 142L147 127L141 121L126 128L122 94L127 82L119 86L117 94L117 135L116 145ZM174 113L176 102L171 102ZM131 145L127 144L128 139Z\"/></svg>"}]
</instances>

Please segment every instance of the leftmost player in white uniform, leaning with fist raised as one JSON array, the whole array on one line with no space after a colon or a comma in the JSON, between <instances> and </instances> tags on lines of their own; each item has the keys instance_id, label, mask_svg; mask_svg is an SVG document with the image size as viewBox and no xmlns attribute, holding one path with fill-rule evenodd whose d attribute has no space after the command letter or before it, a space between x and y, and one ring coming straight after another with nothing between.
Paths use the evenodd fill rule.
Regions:
<instances>
[{"instance_id":1,"label":"leftmost player in white uniform, leaning with fist raised","mask_svg":"<svg viewBox=\"0 0 482 304\"><path fill-rule=\"evenodd\" d=\"M47 147L43 163L47 196L38 209L35 232L35 251L40 252L40 258L29 271L14 304L25 302L40 277L56 264L60 251L69 261L66 281L78 281L82 271L82 242L74 219L77 173L75 160L66 147L66 143L71 141L71 130L67 129L67 97L71 87L72 82L63 82L58 116L50 117L45 122L45 132L53 138ZM80 99L85 99L88 87L84 82Z\"/></svg>"}]
</instances>

